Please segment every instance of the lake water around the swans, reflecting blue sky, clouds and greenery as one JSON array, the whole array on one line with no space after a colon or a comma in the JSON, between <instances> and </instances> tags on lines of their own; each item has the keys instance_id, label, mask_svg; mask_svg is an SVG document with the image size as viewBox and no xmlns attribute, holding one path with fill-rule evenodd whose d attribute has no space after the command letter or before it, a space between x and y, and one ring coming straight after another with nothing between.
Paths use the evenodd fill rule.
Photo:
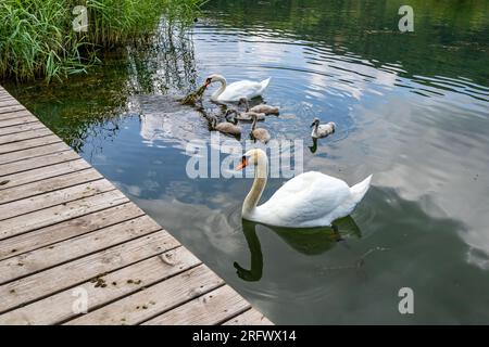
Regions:
<instances>
[{"instance_id":1,"label":"lake water around the swans, reflecting blue sky, clouds and greenery","mask_svg":"<svg viewBox=\"0 0 489 347\"><path fill-rule=\"evenodd\" d=\"M402 4L414 33L398 30ZM7 88L276 323L489 323L488 14L484 0L212 0L191 33ZM210 132L173 100L210 73L272 76L274 138L310 145L314 116L337 124L304 170L374 174L343 242L242 224L251 180L187 177L186 144Z\"/></svg>"}]
</instances>

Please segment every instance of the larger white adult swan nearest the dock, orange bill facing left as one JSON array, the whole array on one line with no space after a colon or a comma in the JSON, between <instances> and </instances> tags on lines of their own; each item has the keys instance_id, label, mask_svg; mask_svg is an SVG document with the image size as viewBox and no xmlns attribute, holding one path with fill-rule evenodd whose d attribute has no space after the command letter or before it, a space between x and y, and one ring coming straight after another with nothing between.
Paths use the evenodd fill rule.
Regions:
<instances>
[{"instance_id":1,"label":"larger white adult swan nearest the dock, orange bill facing left","mask_svg":"<svg viewBox=\"0 0 489 347\"><path fill-rule=\"evenodd\" d=\"M337 178L310 171L285 183L263 205L256 206L268 176L268 158L260 149L248 151L236 168L255 166L254 182L242 205L242 218L268 226L313 228L330 226L350 215L365 196L372 175L352 188Z\"/></svg>"}]
</instances>

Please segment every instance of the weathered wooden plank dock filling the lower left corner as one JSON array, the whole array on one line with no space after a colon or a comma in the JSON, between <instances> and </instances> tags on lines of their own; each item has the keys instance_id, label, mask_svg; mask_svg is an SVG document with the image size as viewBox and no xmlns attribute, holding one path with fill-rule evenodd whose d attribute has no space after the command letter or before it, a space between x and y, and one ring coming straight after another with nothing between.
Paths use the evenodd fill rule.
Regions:
<instances>
[{"instance_id":1,"label":"weathered wooden plank dock filling the lower left corner","mask_svg":"<svg viewBox=\"0 0 489 347\"><path fill-rule=\"evenodd\" d=\"M0 87L0 324L271 322Z\"/></svg>"}]
</instances>

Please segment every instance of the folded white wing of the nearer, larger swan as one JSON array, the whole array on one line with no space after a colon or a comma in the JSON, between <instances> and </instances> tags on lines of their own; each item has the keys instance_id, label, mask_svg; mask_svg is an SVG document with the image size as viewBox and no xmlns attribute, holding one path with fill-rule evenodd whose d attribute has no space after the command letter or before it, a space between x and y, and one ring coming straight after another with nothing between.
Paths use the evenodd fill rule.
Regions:
<instances>
[{"instance_id":1,"label":"folded white wing of the nearer, larger swan","mask_svg":"<svg viewBox=\"0 0 489 347\"><path fill-rule=\"evenodd\" d=\"M325 218L350 194L344 181L312 171L289 180L258 209L261 217L272 218L272 223L300 226Z\"/></svg>"}]
</instances>

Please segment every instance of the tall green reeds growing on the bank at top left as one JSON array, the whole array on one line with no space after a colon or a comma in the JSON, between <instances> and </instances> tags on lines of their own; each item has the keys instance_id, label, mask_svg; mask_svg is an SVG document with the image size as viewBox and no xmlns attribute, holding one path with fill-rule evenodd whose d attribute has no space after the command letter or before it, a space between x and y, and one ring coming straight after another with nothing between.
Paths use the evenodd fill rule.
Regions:
<instances>
[{"instance_id":1,"label":"tall green reeds growing on the bank at top left","mask_svg":"<svg viewBox=\"0 0 489 347\"><path fill-rule=\"evenodd\" d=\"M0 80L62 80L87 73L104 52L148 41L161 18L188 26L205 0L3 0ZM75 7L87 9L87 31L75 31Z\"/></svg>"}]
</instances>

